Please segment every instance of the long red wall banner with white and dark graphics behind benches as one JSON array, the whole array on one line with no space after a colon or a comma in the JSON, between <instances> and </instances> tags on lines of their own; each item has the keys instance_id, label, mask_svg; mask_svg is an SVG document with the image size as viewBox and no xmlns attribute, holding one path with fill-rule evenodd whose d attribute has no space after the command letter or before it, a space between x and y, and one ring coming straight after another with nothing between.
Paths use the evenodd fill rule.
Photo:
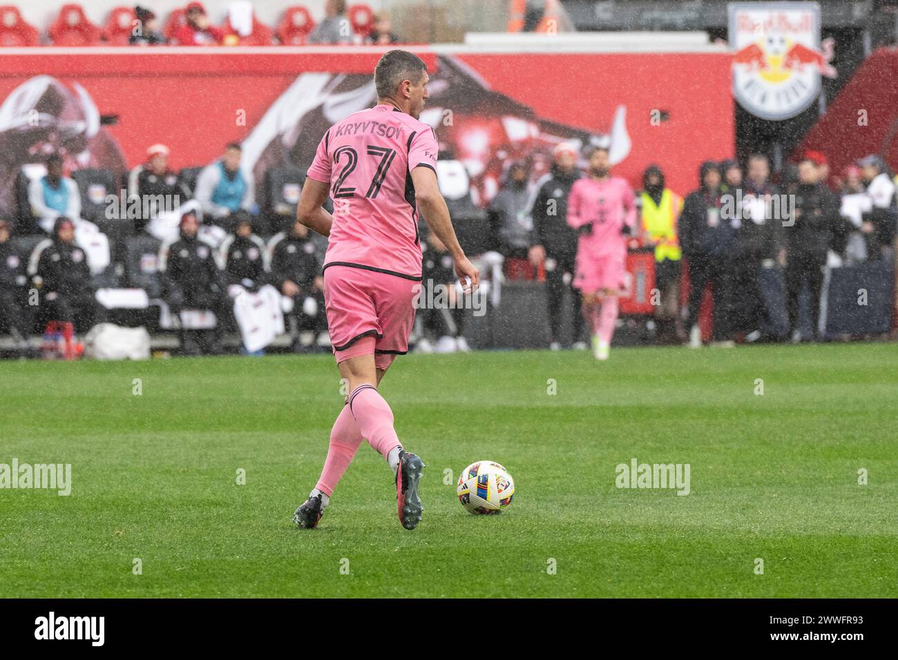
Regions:
<instances>
[{"instance_id":1,"label":"long red wall banner with white and dark graphics behind benches","mask_svg":"<svg viewBox=\"0 0 898 660\"><path fill-rule=\"evenodd\" d=\"M680 194L701 161L734 153L726 54L439 54L427 120L446 154L465 164L484 206L507 163L532 180L561 140L612 146L613 172L634 188L660 164ZM215 160L241 142L257 177L273 164L304 168L331 123L374 103L379 48L32 48L0 52L0 214L12 181L40 152L68 168L123 173L156 143L174 168Z\"/></svg>"}]
</instances>

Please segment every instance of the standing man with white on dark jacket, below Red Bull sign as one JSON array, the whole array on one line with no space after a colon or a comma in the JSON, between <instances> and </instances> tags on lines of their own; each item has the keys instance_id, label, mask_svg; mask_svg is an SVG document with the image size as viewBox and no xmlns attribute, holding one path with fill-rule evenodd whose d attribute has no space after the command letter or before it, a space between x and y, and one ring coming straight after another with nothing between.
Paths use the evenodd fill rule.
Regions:
<instances>
[{"instance_id":1,"label":"standing man with white on dark jacket, below Red Bull sign","mask_svg":"<svg viewBox=\"0 0 898 660\"><path fill-rule=\"evenodd\" d=\"M739 189L728 189L738 200ZM742 207L735 207L735 242L730 252L733 266L733 314L736 330L745 339L762 338L763 329L784 339L782 321L774 319L767 309L761 288L762 268L786 266L786 249L782 234L788 207L780 203L780 190L770 182L770 161L764 154L748 159L748 176L742 186ZM776 205L773 201L776 200Z\"/></svg>"}]
</instances>

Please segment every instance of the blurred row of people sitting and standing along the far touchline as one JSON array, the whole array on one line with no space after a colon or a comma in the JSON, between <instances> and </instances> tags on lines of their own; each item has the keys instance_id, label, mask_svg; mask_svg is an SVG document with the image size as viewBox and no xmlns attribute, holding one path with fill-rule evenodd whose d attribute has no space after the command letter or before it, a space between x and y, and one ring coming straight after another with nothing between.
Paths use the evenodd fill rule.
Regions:
<instances>
[{"instance_id":1,"label":"blurred row of people sitting and standing along the far touchline","mask_svg":"<svg viewBox=\"0 0 898 660\"><path fill-rule=\"evenodd\" d=\"M0 219L0 332L22 350L48 321L71 323L84 334L110 319L99 289L142 288L167 314L213 312L217 322L203 341L186 325L172 328L185 353L215 353L222 332L234 328L233 300L271 286L290 301L284 312L295 350L326 347L320 277L326 242L295 223L301 181L283 185L290 192L282 198L260 195L268 197L263 201L257 189L269 182L257 185L242 169L239 144L227 145L206 167L182 172L169 167L169 155L166 145L151 145L145 163L130 172L129 198L150 203L128 215L123 236L106 235L101 217L87 219L82 200L90 187L79 189L58 155L48 156L45 173L27 186L31 227ZM500 255L501 277L546 287L550 348L584 348L588 339L573 286L577 231L567 217L570 190L584 176L581 162L576 145L561 144L550 172L535 183L527 163L511 163L486 209L483 252ZM666 186L664 168L651 165L635 195L638 230L629 248L654 254L651 321L660 342L701 345L706 289L715 342L818 339L824 267L894 261L895 181L877 155L833 177L823 154L807 153L775 183L767 156L753 154L745 163L702 163L696 184L683 198ZM422 236L425 280L452 285L445 246L424 226ZM784 282L785 318L770 309L765 274L771 272ZM810 301L804 307L802 295ZM804 323L802 309L810 315ZM418 350L468 349L462 310L418 316ZM573 327L571 341L562 338L565 325Z\"/></svg>"}]
</instances>

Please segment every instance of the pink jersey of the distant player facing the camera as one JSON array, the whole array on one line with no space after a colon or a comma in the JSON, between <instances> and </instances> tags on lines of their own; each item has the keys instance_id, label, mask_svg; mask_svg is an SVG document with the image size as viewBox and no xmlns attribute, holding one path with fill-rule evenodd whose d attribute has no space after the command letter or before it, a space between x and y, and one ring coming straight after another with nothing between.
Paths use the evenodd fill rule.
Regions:
<instances>
[{"instance_id":1,"label":"pink jersey of the distant player facing the camera","mask_svg":"<svg viewBox=\"0 0 898 660\"><path fill-rule=\"evenodd\" d=\"M636 233L636 204L629 183L620 177L578 179L568 196L568 224L579 229L593 224L591 233L581 233L577 254L585 258L626 254L627 237L621 233L628 224Z\"/></svg>"}]
</instances>

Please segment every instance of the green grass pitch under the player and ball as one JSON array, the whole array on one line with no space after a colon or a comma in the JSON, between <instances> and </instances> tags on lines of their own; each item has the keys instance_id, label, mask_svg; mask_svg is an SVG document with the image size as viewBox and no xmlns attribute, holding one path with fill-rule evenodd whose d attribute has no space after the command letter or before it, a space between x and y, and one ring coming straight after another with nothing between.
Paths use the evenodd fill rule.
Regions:
<instances>
[{"instance_id":1,"label":"green grass pitch under the player and ball","mask_svg":"<svg viewBox=\"0 0 898 660\"><path fill-rule=\"evenodd\" d=\"M73 480L0 490L0 596L898 595L898 346L406 356L382 392L424 521L363 444L301 531L330 356L0 364L0 463ZM691 493L616 488L632 458L689 463ZM480 459L515 478L502 515L455 497Z\"/></svg>"}]
</instances>

